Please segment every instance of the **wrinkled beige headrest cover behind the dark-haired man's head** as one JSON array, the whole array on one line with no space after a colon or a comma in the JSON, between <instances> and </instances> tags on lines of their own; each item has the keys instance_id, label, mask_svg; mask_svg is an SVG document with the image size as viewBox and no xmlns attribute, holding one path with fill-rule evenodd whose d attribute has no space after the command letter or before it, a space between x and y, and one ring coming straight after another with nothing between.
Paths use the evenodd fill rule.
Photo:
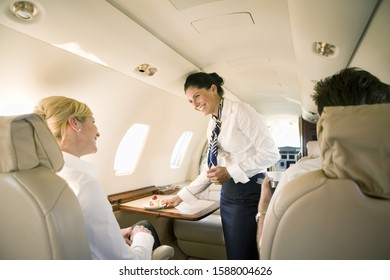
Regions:
<instances>
[{"instance_id":1,"label":"wrinkled beige headrest cover behind the dark-haired man's head","mask_svg":"<svg viewBox=\"0 0 390 280\"><path fill-rule=\"evenodd\" d=\"M389 129L390 104L325 107L317 124L325 174L390 199Z\"/></svg>"}]
</instances>

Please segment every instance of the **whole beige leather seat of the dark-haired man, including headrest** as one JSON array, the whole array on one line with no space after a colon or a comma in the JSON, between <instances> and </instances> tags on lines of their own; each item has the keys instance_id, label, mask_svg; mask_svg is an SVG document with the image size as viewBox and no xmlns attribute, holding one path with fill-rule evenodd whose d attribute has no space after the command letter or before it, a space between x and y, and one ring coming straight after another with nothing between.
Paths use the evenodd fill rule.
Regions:
<instances>
[{"instance_id":1,"label":"whole beige leather seat of the dark-haired man, including headrest","mask_svg":"<svg viewBox=\"0 0 390 280\"><path fill-rule=\"evenodd\" d=\"M322 170L275 192L261 259L390 259L390 105L325 108Z\"/></svg>"}]
</instances>

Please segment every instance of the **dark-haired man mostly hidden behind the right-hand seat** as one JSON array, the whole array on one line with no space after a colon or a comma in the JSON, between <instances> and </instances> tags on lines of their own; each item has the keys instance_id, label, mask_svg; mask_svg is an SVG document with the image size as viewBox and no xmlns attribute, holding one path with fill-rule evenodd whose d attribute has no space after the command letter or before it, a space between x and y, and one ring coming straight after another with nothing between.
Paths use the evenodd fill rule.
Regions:
<instances>
[{"instance_id":1,"label":"dark-haired man mostly hidden behind the right-hand seat","mask_svg":"<svg viewBox=\"0 0 390 280\"><path fill-rule=\"evenodd\" d=\"M333 76L319 81L314 87L313 100L317 105L318 113L321 115L325 106L353 106L363 104L390 103L390 86L381 82L371 73L359 68L346 68ZM320 169L322 162L318 160L319 166L313 164L304 172L298 171L298 176ZM301 164L304 164L303 161ZM318 164L317 163L317 164ZM299 170L301 165L297 163L294 170ZM289 172L288 174L291 174ZM294 177L294 176L292 176ZM296 178L295 176L294 178ZM280 191L288 182L288 178L282 177L282 183L278 184L275 192ZM272 198L272 191L269 186L269 179L266 178L262 184L261 197L258 204L258 227L257 243L260 249L260 240L263 229L265 214Z\"/></svg>"}]
</instances>

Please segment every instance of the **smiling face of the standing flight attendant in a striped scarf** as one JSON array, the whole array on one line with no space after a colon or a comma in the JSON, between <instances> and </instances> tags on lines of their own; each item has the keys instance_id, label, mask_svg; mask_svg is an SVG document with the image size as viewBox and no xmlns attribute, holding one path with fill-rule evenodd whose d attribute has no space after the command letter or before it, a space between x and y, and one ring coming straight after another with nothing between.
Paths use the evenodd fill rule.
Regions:
<instances>
[{"instance_id":1,"label":"smiling face of the standing flight attendant in a striped scarf","mask_svg":"<svg viewBox=\"0 0 390 280\"><path fill-rule=\"evenodd\" d=\"M205 116L209 114L218 115L218 104L221 97L218 95L215 85L212 85L209 89L191 86L187 88L185 94L195 110L202 112Z\"/></svg>"}]
</instances>

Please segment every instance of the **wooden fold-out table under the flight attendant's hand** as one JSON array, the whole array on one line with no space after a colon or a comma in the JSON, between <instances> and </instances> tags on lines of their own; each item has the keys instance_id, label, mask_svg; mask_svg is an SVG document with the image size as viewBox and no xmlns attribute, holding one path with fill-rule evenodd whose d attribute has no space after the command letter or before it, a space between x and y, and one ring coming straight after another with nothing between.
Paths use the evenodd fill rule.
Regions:
<instances>
[{"instance_id":1,"label":"wooden fold-out table under the flight attendant's hand","mask_svg":"<svg viewBox=\"0 0 390 280\"><path fill-rule=\"evenodd\" d=\"M189 205L182 202L175 208L148 210L145 209L145 205L148 205L151 196L139 198L129 202L119 204L119 209L126 212L137 212L154 215L157 217L181 219L197 221L200 220L217 209L219 209L219 201L214 200L198 200L197 203ZM162 200L164 195L158 195L158 198Z\"/></svg>"}]
</instances>

